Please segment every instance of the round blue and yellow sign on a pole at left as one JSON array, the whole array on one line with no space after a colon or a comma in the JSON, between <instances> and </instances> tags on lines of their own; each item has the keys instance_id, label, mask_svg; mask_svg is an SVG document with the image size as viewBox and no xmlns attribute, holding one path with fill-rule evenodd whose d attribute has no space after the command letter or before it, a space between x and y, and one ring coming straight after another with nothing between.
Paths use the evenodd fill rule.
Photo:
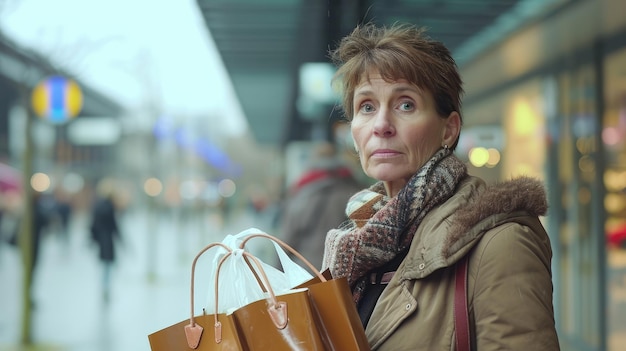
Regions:
<instances>
[{"instance_id":1,"label":"round blue and yellow sign on a pole at left","mask_svg":"<svg viewBox=\"0 0 626 351\"><path fill-rule=\"evenodd\" d=\"M65 123L80 113L83 93L75 81L51 76L35 86L31 104L37 116L51 123Z\"/></svg>"}]
</instances>

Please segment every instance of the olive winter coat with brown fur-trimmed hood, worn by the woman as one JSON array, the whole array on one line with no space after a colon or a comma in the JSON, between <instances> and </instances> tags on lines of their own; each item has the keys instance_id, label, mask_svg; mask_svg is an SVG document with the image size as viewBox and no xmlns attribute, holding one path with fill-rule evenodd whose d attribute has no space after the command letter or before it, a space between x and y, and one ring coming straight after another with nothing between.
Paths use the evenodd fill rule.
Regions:
<instances>
[{"instance_id":1,"label":"olive winter coat with brown fur-trimmed hood, worn by the woman","mask_svg":"<svg viewBox=\"0 0 626 351\"><path fill-rule=\"evenodd\" d=\"M538 181L470 177L433 209L383 291L366 334L373 350L456 350L455 263L469 254L472 350L559 350L547 210Z\"/></svg>"}]
</instances>

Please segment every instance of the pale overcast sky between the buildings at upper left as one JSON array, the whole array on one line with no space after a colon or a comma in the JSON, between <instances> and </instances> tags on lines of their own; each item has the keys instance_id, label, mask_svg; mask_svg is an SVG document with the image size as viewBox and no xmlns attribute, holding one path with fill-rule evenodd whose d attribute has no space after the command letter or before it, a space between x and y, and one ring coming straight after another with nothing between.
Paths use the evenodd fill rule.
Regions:
<instances>
[{"instance_id":1,"label":"pale overcast sky between the buildings at upper left","mask_svg":"<svg viewBox=\"0 0 626 351\"><path fill-rule=\"evenodd\" d=\"M220 114L245 128L241 108L195 0L0 0L0 28L130 107Z\"/></svg>"}]
</instances>

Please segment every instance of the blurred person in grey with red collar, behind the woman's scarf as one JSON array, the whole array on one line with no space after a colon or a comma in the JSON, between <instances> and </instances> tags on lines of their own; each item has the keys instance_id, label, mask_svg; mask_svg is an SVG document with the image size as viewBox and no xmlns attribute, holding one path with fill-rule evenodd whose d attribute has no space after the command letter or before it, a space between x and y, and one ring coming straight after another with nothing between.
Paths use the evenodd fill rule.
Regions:
<instances>
[{"instance_id":1,"label":"blurred person in grey with red collar, behind the woman's scarf","mask_svg":"<svg viewBox=\"0 0 626 351\"><path fill-rule=\"evenodd\" d=\"M291 186L283 204L285 242L320 268L326 233L347 219L343 209L361 188L331 143L317 145L307 170Z\"/></svg>"}]
</instances>

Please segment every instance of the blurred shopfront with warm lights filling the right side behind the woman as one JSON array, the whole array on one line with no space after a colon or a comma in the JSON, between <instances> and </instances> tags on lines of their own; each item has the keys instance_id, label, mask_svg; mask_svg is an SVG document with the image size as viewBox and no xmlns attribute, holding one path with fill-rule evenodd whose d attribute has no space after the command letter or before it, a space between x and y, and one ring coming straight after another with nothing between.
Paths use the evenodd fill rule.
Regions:
<instances>
[{"instance_id":1,"label":"blurred shopfront with warm lights filling the right side behind the woman","mask_svg":"<svg viewBox=\"0 0 626 351\"><path fill-rule=\"evenodd\" d=\"M471 172L546 182L563 350L626 345L626 18L618 13L618 1L577 2L462 67L468 133L459 152Z\"/></svg>"}]
</instances>

